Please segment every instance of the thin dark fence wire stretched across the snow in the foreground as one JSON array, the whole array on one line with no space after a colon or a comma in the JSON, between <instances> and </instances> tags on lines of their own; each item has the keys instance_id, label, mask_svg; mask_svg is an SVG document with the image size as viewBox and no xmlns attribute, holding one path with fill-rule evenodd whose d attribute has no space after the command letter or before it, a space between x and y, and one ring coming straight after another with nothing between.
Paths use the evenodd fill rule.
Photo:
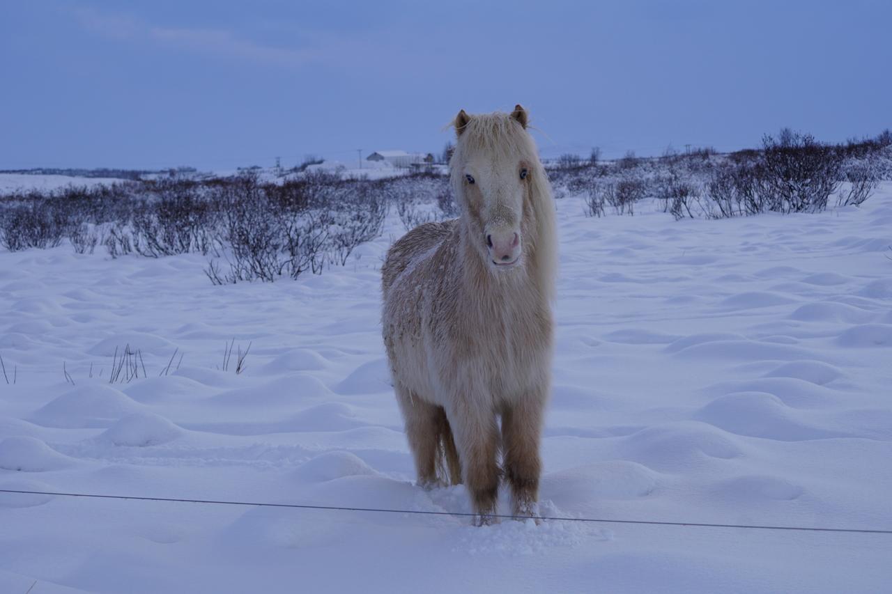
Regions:
<instances>
[{"instance_id":1,"label":"thin dark fence wire stretched across the snow in the foreground","mask_svg":"<svg viewBox=\"0 0 892 594\"><path fill-rule=\"evenodd\" d=\"M299 503L267 503L260 501L226 501L219 499L178 499L172 497L145 497L136 495L103 495L99 493L68 493L54 491L26 491L18 489L0 489L0 493L12 493L20 495L54 495L57 497L79 497L87 499L129 499L136 501L163 501L169 503L198 503L203 505L218 506L242 506L242 507L286 507L292 509L317 509L328 511L353 511L353 512L370 512L379 514L409 514L416 516L458 516L458 517L475 517L476 514L468 512L450 512L450 511L425 511L418 509L391 509L387 507L344 507L344 506L322 506ZM509 514L491 514L489 517L511 520L528 520L529 516L514 516ZM892 530L866 529L866 528L823 528L812 526L783 526L783 525L760 525L760 524L713 524L707 522L668 522L660 520L630 520L616 518L594 518L594 517L570 517L570 516L536 516L535 519L548 520L554 522L586 522L586 523L604 523L604 524L646 524L656 526L687 526L691 528L732 528L742 530L778 530L778 531L797 531L797 532L848 532L857 534L892 534Z\"/></svg>"}]
</instances>

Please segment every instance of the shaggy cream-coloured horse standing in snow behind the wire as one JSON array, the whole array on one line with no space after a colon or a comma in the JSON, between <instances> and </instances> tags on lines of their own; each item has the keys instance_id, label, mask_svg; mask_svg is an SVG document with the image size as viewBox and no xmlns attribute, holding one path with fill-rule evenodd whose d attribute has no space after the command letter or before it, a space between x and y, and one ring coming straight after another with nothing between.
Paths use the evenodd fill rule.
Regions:
<instances>
[{"instance_id":1,"label":"shaggy cream-coloured horse standing in snow behind the wire","mask_svg":"<svg viewBox=\"0 0 892 594\"><path fill-rule=\"evenodd\" d=\"M415 227L382 268L384 345L417 483L464 483L475 525L495 519L502 475L512 514L537 516L558 247L527 121L520 105L458 112L458 219Z\"/></svg>"}]
</instances>

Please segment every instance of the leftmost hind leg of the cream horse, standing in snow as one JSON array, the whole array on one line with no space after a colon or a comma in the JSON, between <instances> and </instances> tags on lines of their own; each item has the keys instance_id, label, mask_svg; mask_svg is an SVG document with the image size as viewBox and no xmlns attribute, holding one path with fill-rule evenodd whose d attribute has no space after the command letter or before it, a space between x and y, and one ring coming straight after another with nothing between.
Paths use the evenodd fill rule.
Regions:
<instances>
[{"instance_id":1,"label":"leftmost hind leg of the cream horse, standing in snow","mask_svg":"<svg viewBox=\"0 0 892 594\"><path fill-rule=\"evenodd\" d=\"M412 457L415 458L418 484L425 489L431 489L439 484L437 479L437 444L442 408L421 400L417 394L399 382L393 384L406 425L409 449L412 450Z\"/></svg>"}]
</instances>

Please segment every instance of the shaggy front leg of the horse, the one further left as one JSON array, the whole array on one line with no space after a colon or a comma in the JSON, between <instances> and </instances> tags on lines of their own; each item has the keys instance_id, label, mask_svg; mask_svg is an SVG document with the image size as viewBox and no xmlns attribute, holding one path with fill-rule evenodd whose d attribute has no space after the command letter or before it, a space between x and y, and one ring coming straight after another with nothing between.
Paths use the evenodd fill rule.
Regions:
<instances>
[{"instance_id":1,"label":"shaggy front leg of the horse, the one further left","mask_svg":"<svg viewBox=\"0 0 892 594\"><path fill-rule=\"evenodd\" d=\"M458 446L462 478L477 514L475 524L491 524L499 494L499 427L489 408L474 406L465 399L456 400L446 408L446 416Z\"/></svg>"}]
</instances>

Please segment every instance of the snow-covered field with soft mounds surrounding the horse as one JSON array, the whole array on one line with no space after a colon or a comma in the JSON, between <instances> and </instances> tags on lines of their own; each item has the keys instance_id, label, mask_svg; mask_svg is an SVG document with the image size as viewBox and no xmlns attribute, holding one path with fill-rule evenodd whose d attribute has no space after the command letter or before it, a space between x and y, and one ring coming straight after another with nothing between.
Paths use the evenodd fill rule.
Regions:
<instances>
[{"instance_id":1,"label":"snow-covered field with soft mounds surrounding the horse","mask_svg":"<svg viewBox=\"0 0 892 594\"><path fill-rule=\"evenodd\" d=\"M558 202L542 514L892 529L892 184L817 215L636 212ZM461 486L413 484L388 385L378 269L402 232L273 285L211 285L201 256L0 253L0 489L469 511ZM127 344L148 377L109 384ZM0 592L890 583L892 534L0 493Z\"/></svg>"}]
</instances>

